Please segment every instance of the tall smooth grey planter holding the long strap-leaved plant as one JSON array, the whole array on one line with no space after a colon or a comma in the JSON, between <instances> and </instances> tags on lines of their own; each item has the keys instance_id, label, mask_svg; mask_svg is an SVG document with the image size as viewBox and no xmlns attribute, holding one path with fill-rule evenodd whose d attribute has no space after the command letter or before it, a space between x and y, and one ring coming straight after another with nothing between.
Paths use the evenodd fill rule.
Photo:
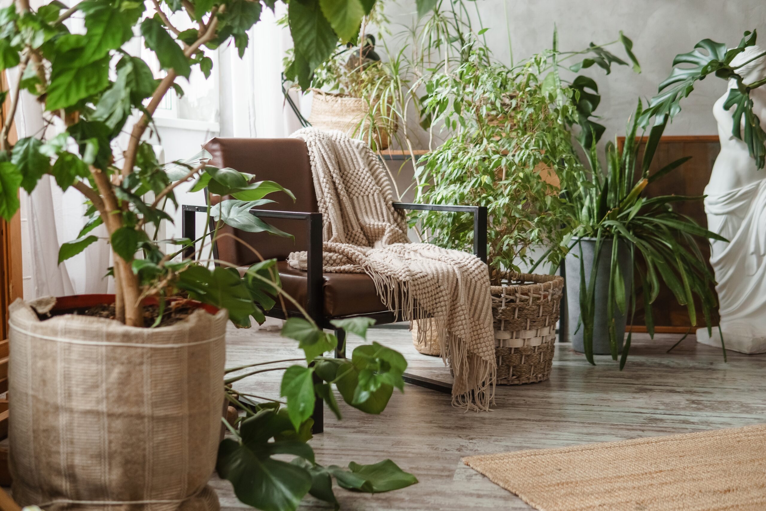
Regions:
<instances>
[{"instance_id":1,"label":"tall smooth grey planter holding the long strap-leaved plant","mask_svg":"<svg viewBox=\"0 0 766 511\"><path fill-rule=\"evenodd\" d=\"M585 268L585 285L588 285L591 279L591 269L593 268L593 260L596 250L596 240L594 238L584 237L581 241L582 257ZM609 267L612 254L612 240L604 241L601 247L601 255L598 258L598 274L596 276L596 308L594 313L594 331L593 331L593 352L596 355L609 355L611 349L609 347L609 323L607 321L607 300L609 296ZM580 319L580 250L577 245L572 248L571 252L565 259L566 264L566 292L567 292L567 307L568 307L568 340L572 343L572 347L577 352L584 352L583 345L583 329L580 329L575 333L577 329L578 319ZM617 262L620 264L620 271L625 277L625 296L627 297L632 292L633 283L633 267L630 265L630 249L623 241L620 241L620 246L617 249ZM622 336L618 339L618 350L621 351L624 342L625 325L627 324L627 313L620 313L620 310L615 306L615 319L617 321L617 332L622 332ZM627 304L626 304L627 309Z\"/></svg>"}]
</instances>

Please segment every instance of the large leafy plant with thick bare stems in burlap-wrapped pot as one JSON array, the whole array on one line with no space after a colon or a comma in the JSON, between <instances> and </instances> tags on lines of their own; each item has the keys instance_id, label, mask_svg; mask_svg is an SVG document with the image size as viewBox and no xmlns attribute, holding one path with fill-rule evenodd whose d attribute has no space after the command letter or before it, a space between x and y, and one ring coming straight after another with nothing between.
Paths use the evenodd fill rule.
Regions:
<instances>
[{"instance_id":1,"label":"large leafy plant with thick bare stems in burlap-wrapped pot","mask_svg":"<svg viewBox=\"0 0 766 511\"><path fill-rule=\"evenodd\" d=\"M360 19L374 3L352 0L337 9L333 2L290 2L288 12L295 43L296 76L306 80L312 70L329 57L339 38L342 41L353 38L358 31ZM164 464L158 461L154 465L156 470L162 467L167 469L156 474L157 477L175 477L174 474L182 477L181 469L187 467L185 464L190 460L198 464L195 470L199 477L196 479L179 483L180 486L175 482L166 485L162 483L160 486L164 493L159 497L161 500L175 498L179 503L185 503L184 506L197 505L211 509L217 506L214 493L205 490L205 483L215 464L220 427L217 423L221 403L224 401L221 379L224 375L225 318L228 316L237 326L249 326L250 318L262 321L263 309L273 306L276 295L283 294L273 270L273 260L262 261L250 267L244 277L225 265L208 268L208 263L212 261L210 256L204 254L204 242L214 239L217 228L213 232L205 232L195 241L158 240L149 233L158 232L157 228L162 221L171 221L163 206L169 202L175 203L175 188L183 182L195 180L194 189L207 187L212 193L234 196L234 199L221 202L217 208L208 210L208 215L214 218L217 226L233 224L245 230L269 231L286 236L288 234L265 224L247 211L268 201L264 196L269 193L283 192L290 195L290 192L274 182L253 182L253 175L207 165L204 155L178 162L175 168L166 169L156 161L151 146L144 139L147 128L152 125L152 114L165 93L171 87L182 92L175 83L176 78L188 77L192 66L199 66L205 74L211 72L212 61L205 56L204 48L214 49L233 41L239 51L244 51L248 42L247 30L257 22L264 5L273 8L273 2L261 4L246 0L183 0L160 3L158 0L154 4L156 13L153 17L145 16L143 2L111 0L87 0L68 9L60 2L51 2L37 10L32 10L26 0L18 0L15 5L0 11L0 32L3 36L0 38L0 70L19 67L18 82L11 91L11 108L0 136L0 215L6 219L11 218L19 207L18 188L23 187L31 192L46 175L53 176L57 185L63 189L77 189L86 198L89 219L77 240L62 245L59 259L72 257L96 241L96 231L93 229L103 224L113 251L114 265L110 273L113 274L116 290L111 297L90 296L89 300L97 301L96 310L87 310L83 302L74 300L71 309L77 310L79 316L44 319L44 315L51 311L51 303L34 304L38 306L37 312L31 307L20 306L25 313L23 318L21 310L17 311L18 314L11 314L11 323L17 326L23 323L23 328L12 330L14 333L11 335L11 346L18 346L12 349L15 355L19 354L11 361L12 385L16 385L18 390L25 388L25 383L31 385L33 381L42 382L47 385L44 388L50 389L52 393L22 394L19 390L20 397L15 399L18 405L11 405L11 408L20 407L18 413L11 413L11 430L16 433L32 431L34 414L22 413L25 411L22 405L46 404L47 401L41 401L41 398L47 399L53 395L59 397L51 398L56 406L46 406L44 411L51 414L51 431L60 434L57 438L66 439L67 435L80 434L88 424L106 424L111 433L104 436L102 431L100 438L104 441L90 442L90 450L83 450L84 457L72 457L71 464L61 464L61 467L46 465L44 468L50 468L51 472L38 470L42 465L36 466L35 463L41 457L49 454L53 456L52 451L25 450L24 445L18 443L22 440L21 435L11 434L12 447L16 453L12 466L15 467L15 483L19 485L15 495L24 504L42 504L38 499L43 497L71 499L71 495L58 490L61 486L54 485L55 490L51 490L53 486L46 486L50 482L46 477L55 477L55 470L60 470L55 473L64 476L68 473L79 474L80 477L75 480L83 483L87 490L77 493L78 499L119 500L123 497L123 500L130 501L136 500L138 495L139 499L144 496L148 501L142 505L150 505L158 498L158 493L151 490L152 485L145 484L140 477L125 480L122 473L116 470L110 473L117 474L116 480L91 485L93 471L87 472L94 466L94 461L101 464L104 460L109 460L110 467L114 469L125 466L129 467L126 470L135 471L136 467L145 466L143 464L146 459L141 456L146 454L155 455L155 461L164 460ZM185 13L194 28L179 30L169 21L166 14L168 11ZM67 28L67 19L75 13L84 18L84 34L71 33ZM146 47L156 55L165 70L164 76L153 77L149 66L142 59L121 49L136 33L142 35ZM21 89L38 98L44 106L48 123L53 123L55 118L56 123L64 126L61 133L55 136L39 133L11 145L9 129ZM129 123L133 120L135 123L131 126ZM116 138L126 129L130 129L131 135L127 147L124 152L116 151ZM149 192L153 193L153 198L147 203L143 197ZM179 260L178 256L195 242L200 244L195 257ZM204 336L198 339L199 342L180 339L184 337L185 325L188 327L184 321L186 315L198 319L207 317L206 313L196 310L201 306L214 306L213 310L218 310L214 316L214 325L210 328L197 326L195 332ZM106 317L90 318L87 317L89 313ZM209 323L210 320L204 321ZM56 332L42 333L54 324L58 326ZM97 332L94 332L95 326L98 327ZM355 331L354 325L344 326L351 332ZM109 332L114 331L123 336L123 342L110 342ZM361 332L358 328L357 331ZM328 362L317 357L326 350L332 350L335 346L333 342L337 342L337 339L322 332L310 318L303 323L297 319L287 322L284 334L299 341L310 366L294 365L284 375L282 393L287 398L287 405L283 412L265 410L260 415L255 414L258 420L244 421L243 427L244 424L247 427L241 428L241 442L236 446L227 442L222 445L222 452L219 453L221 457L218 469L222 474L244 474L247 480L260 480L260 477L267 476L260 485L260 495L253 496L250 493L244 497L246 502L261 509L294 509L300 497L311 489L305 486L305 482L318 469L313 464L313 456L305 444L306 435L302 431L305 432L315 395L333 408L334 397L329 387L333 383L339 387L344 398L350 392L348 401L353 406L379 413L381 406L385 407L394 386L401 388L402 360L396 352L373 344L358 348L359 352L355 350L351 361L342 359ZM78 356L91 363L78 365L84 368L83 372L67 376L65 357L22 357L25 347L31 344L21 336L37 339L35 342L59 342L61 344L58 346L67 346L67 350L79 346L80 350L85 351L66 351L67 355ZM168 342L169 339L171 342ZM172 339L179 340L175 342ZM200 346L209 346L211 351L193 352L193 349L199 349ZM104 353L111 353L115 348L131 353L146 354L156 350L153 352L181 355L163 358L159 355L134 357L121 353L119 357L110 355L108 360L114 362L110 365ZM28 355L30 353L28 351ZM176 381L173 379L175 373L164 370L172 367L181 374L189 375L196 368L191 365L191 360L206 361L205 374L195 375L196 378L179 377ZM25 361L35 369L34 373L26 369L28 365L22 363ZM337 365L340 365L342 371L333 372L333 369L338 369ZM153 372L149 370L152 368L155 369ZM52 375L62 376L59 380L51 380ZM316 385L312 383L314 375L319 378ZM364 375L364 378L359 375ZM182 408L178 412L175 408L172 412L163 408L165 401L154 401L157 392L149 392L141 386L131 386L132 382L144 382L146 385L155 381L167 383L167 378L170 378L172 392L160 394L164 396L163 399L172 401L173 406L180 403L178 406ZM61 385L62 382L66 385ZM81 384L68 386L77 382ZM113 401L107 398L113 396L104 395L104 392L113 387L107 387L105 382L116 385L122 395L129 393L134 401L137 400L136 407L129 408L136 413L123 413L119 401L112 405ZM121 382L123 385L119 385ZM197 392L198 385L203 382L218 384L211 384L204 391ZM305 385L306 382L308 385ZM88 413L81 412L85 406L82 403L67 408L67 405L74 402L70 400L70 395L80 391L87 392L82 399L87 401ZM61 398L62 392L64 398ZM196 395L198 400L192 405L188 399L179 401L175 395ZM369 402L373 398L375 406ZM311 405L307 404L309 401ZM93 408L93 403L103 406ZM257 408L257 405L253 405L253 408ZM283 437L289 436L286 430L273 428L273 420L281 418L282 414L289 418L294 434L300 434L300 437L286 444L280 443ZM61 420L55 420L57 417ZM143 434L130 433L126 437L127 431L138 431L131 427L133 423L126 422L135 417L139 418L139 423L143 424L141 427L145 428L140 430ZM153 431L162 431L162 427L159 427L162 418L174 417L182 418L183 424L188 426L182 430L187 435L187 441L180 444L159 441ZM149 427L147 430L147 424L157 425L157 428ZM171 427L175 423L170 421L168 424L165 421L162 424ZM109 441L106 441L107 437ZM178 439L182 438L178 436ZM270 442L271 438L275 441ZM61 449L63 452L66 447ZM190 450L201 453L201 458L192 457ZM270 455L277 453L293 453L303 461L288 472L283 470L280 462L271 460ZM248 457L250 454L254 457ZM237 456L240 457L237 463L231 461ZM174 466L181 458L185 464ZM50 460L50 457L46 459ZM237 464L236 470L232 464ZM358 470L355 470L356 466L352 467L351 471L357 472L356 477L340 469L333 469L333 476L343 480L342 484L365 491L378 491L381 487L390 490L414 482L414 478L402 476L401 470L394 470L395 466L391 465L391 462L385 463L384 473L394 473L399 481L395 484L384 477L385 485L376 486L380 481L365 479L368 470L365 467L357 467ZM274 470L269 473L259 472L263 467ZM152 476L149 473L141 475ZM242 481L234 476L232 478L237 488ZM30 485L36 485L36 488ZM105 489L107 493L102 494L99 488ZM326 485L322 488L322 491L326 490Z\"/></svg>"}]
</instances>

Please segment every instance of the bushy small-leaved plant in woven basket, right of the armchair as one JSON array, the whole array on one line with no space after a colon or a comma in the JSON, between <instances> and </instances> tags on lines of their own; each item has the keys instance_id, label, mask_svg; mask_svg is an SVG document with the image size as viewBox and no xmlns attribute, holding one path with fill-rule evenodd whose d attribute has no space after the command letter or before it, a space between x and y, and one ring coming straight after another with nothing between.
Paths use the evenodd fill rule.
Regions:
<instances>
[{"instance_id":1,"label":"bushy small-leaved plant in woven basket, right of the armchair","mask_svg":"<svg viewBox=\"0 0 766 511\"><path fill-rule=\"evenodd\" d=\"M539 382L551 368L563 283L560 277L519 274L519 265L532 264L535 247L550 247L542 258L557 262L567 221L558 175L580 165L569 128L600 130L591 120L600 99L597 85L586 77L567 82L558 67L578 55L584 60L574 71L594 64L609 71L612 64L627 62L604 45L559 51L554 35L552 50L509 68L493 63L480 33L464 34L463 61L445 63L425 83L424 115L444 123L450 137L421 160L419 193L424 202L488 208L499 382ZM620 34L615 42L624 44L639 70L630 39ZM417 221L434 243L462 248L473 241L472 218L464 215L426 214ZM527 359L535 363L524 364ZM501 366L507 378L501 378Z\"/></svg>"}]
</instances>

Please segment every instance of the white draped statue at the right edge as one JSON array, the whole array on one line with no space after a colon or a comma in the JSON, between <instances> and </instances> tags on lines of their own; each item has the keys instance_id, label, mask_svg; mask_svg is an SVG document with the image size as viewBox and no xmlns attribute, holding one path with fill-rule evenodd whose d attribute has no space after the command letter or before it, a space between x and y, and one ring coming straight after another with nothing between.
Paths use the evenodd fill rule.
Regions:
<instances>
[{"instance_id":1,"label":"white draped statue at the right edge","mask_svg":"<svg viewBox=\"0 0 766 511\"><path fill-rule=\"evenodd\" d=\"M748 47L732 61L739 65L763 53ZM739 70L745 84L766 77L766 58ZM732 80L729 88L735 87ZM724 110L728 91L713 106L718 121L721 152L705 187L705 213L710 231L729 240L712 241L710 264L715 270L721 332L726 349L743 353L766 352L766 169L758 170L745 142L732 136L732 113ZM766 87L752 90L753 112L766 129ZM744 122L744 116L743 116ZM708 336L697 330L697 340L721 346L717 329Z\"/></svg>"}]
</instances>

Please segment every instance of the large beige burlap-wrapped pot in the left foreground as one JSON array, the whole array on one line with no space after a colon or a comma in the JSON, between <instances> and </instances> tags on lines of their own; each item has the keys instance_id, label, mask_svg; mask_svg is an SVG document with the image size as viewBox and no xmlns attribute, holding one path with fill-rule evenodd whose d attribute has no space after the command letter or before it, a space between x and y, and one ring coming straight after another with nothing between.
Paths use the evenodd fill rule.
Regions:
<instances>
[{"instance_id":1,"label":"large beige burlap-wrapped pot in the left foreground","mask_svg":"<svg viewBox=\"0 0 766 511\"><path fill-rule=\"evenodd\" d=\"M228 313L196 310L149 329L72 314L41 321L30 306L37 302L10 306L14 499L47 511L217 511L208 480L221 432Z\"/></svg>"}]
</instances>

